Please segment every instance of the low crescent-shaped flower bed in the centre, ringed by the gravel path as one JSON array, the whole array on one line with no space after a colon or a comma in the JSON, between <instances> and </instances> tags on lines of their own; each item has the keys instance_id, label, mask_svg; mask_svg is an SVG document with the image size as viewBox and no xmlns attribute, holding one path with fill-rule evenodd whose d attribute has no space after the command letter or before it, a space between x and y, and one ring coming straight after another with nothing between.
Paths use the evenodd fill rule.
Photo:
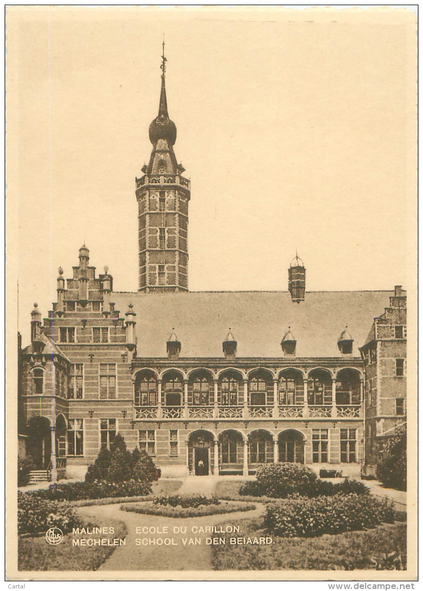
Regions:
<instances>
[{"instance_id":1,"label":"low crescent-shaped flower bed in the centre, ringed by the gravel path","mask_svg":"<svg viewBox=\"0 0 423 591\"><path fill-rule=\"evenodd\" d=\"M145 515L162 515L163 517L204 517L205 515L219 515L233 513L235 511L252 511L256 505L246 503L220 502L219 505L199 505L196 507L181 507L170 505L155 505L151 502L143 502L140 505L123 505L122 511L132 511Z\"/></svg>"}]
</instances>

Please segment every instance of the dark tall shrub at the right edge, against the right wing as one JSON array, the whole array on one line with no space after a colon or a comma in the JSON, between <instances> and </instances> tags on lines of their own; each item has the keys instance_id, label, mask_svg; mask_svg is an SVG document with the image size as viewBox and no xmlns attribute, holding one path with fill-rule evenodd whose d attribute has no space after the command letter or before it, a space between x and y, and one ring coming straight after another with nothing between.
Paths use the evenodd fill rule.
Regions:
<instances>
[{"instance_id":1,"label":"dark tall shrub at the right edge, against the right wing","mask_svg":"<svg viewBox=\"0 0 423 591\"><path fill-rule=\"evenodd\" d=\"M407 489L407 431L399 427L389 437L382 450L382 459L376 467L376 475L385 486L406 491Z\"/></svg>"}]
</instances>

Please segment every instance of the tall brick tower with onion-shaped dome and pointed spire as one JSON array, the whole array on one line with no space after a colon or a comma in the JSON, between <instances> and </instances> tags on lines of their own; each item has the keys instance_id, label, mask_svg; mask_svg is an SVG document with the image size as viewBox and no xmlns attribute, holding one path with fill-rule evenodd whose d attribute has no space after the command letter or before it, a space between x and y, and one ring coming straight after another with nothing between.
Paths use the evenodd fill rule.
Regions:
<instances>
[{"instance_id":1,"label":"tall brick tower with onion-shaped dome and pointed spire","mask_svg":"<svg viewBox=\"0 0 423 591\"><path fill-rule=\"evenodd\" d=\"M148 135L150 161L136 178L138 201L139 291L188 291L188 202L190 181L182 176L173 145L176 125L169 119L166 100L166 57L162 54L159 115Z\"/></svg>"}]
</instances>

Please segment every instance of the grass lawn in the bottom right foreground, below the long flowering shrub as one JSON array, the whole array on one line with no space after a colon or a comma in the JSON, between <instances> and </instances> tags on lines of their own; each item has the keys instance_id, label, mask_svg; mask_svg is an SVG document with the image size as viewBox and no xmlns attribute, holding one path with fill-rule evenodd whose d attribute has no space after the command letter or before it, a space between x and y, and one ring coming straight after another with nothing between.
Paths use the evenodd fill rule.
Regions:
<instances>
[{"instance_id":1,"label":"grass lawn in the bottom right foreground, below the long flowering shrub","mask_svg":"<svg viewBox=\"0 0 423 591\"><path fill-rule=\"evenodd\" d=\"M261 519L237 521L244 537L267 534ZM279 538L273 545L212 547L215 570L393 570L406 566L406 525L380 525L374 530L325 534L316 538ZM387 555L393 554L388 558Z\"/></svg>"}]
</instances>

